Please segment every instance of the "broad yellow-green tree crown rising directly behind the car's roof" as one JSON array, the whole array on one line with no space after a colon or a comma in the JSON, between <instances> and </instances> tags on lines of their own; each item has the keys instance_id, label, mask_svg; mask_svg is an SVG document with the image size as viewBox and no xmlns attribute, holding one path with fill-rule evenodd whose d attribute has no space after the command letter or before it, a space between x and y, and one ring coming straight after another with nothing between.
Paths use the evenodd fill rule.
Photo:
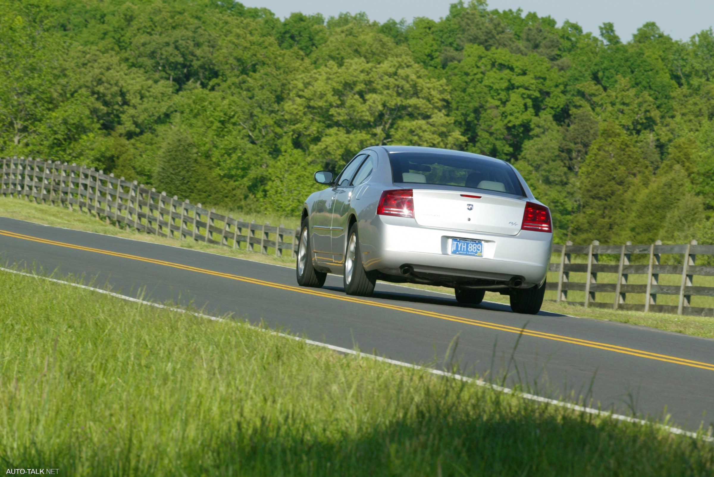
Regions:
<instances>
[{"instance_id":1,"label":"broad yellow-green tree crown rising directly behind the car's roof","mask_svg":"<svg viewBox=\"0 0 714 477\"><path fill-rule=\"evenodd\" d=\"M377 65L358 58L298 76L285 108L294 143L335 169L368 145L458 147L447 100L446 81L429 78L411 58Z\"/></svg>"}]
</instances>

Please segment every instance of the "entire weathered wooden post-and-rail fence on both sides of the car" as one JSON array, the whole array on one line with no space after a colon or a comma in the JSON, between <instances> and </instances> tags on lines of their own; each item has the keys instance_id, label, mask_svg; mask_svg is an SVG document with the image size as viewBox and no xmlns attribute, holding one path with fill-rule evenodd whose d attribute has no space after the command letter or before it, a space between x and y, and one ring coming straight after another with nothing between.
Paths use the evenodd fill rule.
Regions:
<instances>
[{"instance_id":1,"label":"entire weathered wooden post-and-rail fence on both sides of the car","mask_svg":"<svg viewBox=\"0 0 714 477\"><path fill-rule=\"evenodd\" d=\"M36 202L66 205L70 209L77 207L97 217L113 220L118 227L124 224L160 237L246 248L262 254L273 249L276 256L289 254L289 257L295 257L297 252L299 229L258 224L255 220L236 220L231 215L206 210L201 204L193 205L176 195L169 197L136 181L115 178L114 174L104 174L84 165L3 158L0 159L0 181L3 196L32 198ZM557 274L558 278L555 281L550 279L546 286L547 290L555 292L556 302L714 316L714 306L691 306L693 296L714 297L714 287L694 284L696 276L714 276L713 266L696 265L698 256L714 255L714 245L698 245L695 240L685 245L663 245L659 241L652 245L631 245L630 242L625 245L600 245L597 241L590 245L572 245L568 242L553 245L553 253L559 260L550 263L548 271L553 272L551 276ZM585 262L573 262L573 255L583 257ZM601 258L608 255L613 257L613 260L608 260L613 263L601 262ZM660 263L662 255L680 256L680 259L670 262L681 262L681 265ZM642 259L637 260L638 256ZM584 273L585 281L574 281L571 273ZM614 274L617 277L615 283L598 282L598 273ZM634 275L645 276L645 283L630 283ZM660 275L677 275L680 277L679 284L660 284ZM568 300L569 292L584 292L584 301ZM603 293L612 294L614 298L607 302L597 301L596 297L602 297ZM633 294L644 294L644 304L628 302L627 297ZM678 304L658 304L657 297L660 295L675 295Z\"/></svg>"}]
</instances>

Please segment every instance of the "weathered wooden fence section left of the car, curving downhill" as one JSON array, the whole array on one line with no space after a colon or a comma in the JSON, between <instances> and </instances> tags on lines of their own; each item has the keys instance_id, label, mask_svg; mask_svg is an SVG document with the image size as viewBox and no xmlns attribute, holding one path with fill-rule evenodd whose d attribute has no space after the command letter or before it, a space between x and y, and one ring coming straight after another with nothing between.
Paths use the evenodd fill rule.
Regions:
<instances>
[{"instance_id":1,"label":"weathered wooden fence section left of the car, curving downhill","mask_svg":"<svg viewBox=\"0 0 714 477\"><path fill-rule=\"evenodd\" d=\"M143 184L115 178L84 165L46 162L32 158L0 160L0 193L51 205L79 207L107 220L114 220L160 237L196 240L214 245L247 248L263 254L289 253L295 257L295 237L300 230L269 223L243 222L169 197Z\"/></svg>"}]
</instances>

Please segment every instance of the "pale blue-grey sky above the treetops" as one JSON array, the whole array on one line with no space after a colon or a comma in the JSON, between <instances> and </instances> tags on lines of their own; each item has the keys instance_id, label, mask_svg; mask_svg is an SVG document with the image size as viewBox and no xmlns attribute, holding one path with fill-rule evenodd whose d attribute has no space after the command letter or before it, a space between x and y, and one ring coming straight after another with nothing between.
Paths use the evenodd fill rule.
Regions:
<instances>
[{"instance_id":1,"label":"pale blue-grey sky above the treetops","mask_svg":"<svg viewBox=\"0 0 714 477\"><path fill-rule=\"evenodd\" d=\"M352 14L364 11L379 22L415 16L438 20L448 14L455 0L239 0L246 6L264 6L278 17L293 11L303 14L321 13L325 18L340 12ZM468 0L464 1L468 3ZM615 24L623 41L632 39L637 29L654 21L673 39L686 40L714 26L714 0L488 0L489 9L535 11L538 16L550 15L558 21L574 21L585 31L599 34L598 26L605 21Z\"/></svg>"}]
</instances>

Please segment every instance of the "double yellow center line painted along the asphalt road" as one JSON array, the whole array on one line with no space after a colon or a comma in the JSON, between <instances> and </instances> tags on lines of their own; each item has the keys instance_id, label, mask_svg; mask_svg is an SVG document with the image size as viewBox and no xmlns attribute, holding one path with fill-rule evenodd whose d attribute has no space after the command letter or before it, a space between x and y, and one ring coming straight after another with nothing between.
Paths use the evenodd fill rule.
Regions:
<instances>
[{"instance_id":1,"label":"double yellow center line painted along the asphalt road","mask_svg":"<svg viewBox=\"0 0 714 477\"><path fill-rule=\"evenodd\" d=\"M691 366L694 368L708 369L710 371L714 371L714 364L703 363L701 361L693 361L691 359L683 359L683 358L668 356L666 354L657 354L657 353L647 352L647 351L643 351L641 349L620 347L620 346L615 346L614 344L588 341L587 339L565 337L565 336L561 336L559 334L537 332L537 331L533 331L530 329L521 329L518 327L510 327L505 324L483 322L478 319L455 317L450 314L429 312L429 311L426 311L423 309L417 309L417 308L401 307L401 306L395 305L395 304L374 302L372 300L357 298L357 297L350 297L348 295L323 292L320 289L293 287L291 285L285 285L285 284L280 284L280 283L275 283L275 282L266 282L265 280L261 280L261 279L256 279L256 278L251 278L251 277L241 277L240 275L232 275L230 273L216 272L213 270L206 270L203 268L191 267L190 265L182 265L182 264L174 263L174 262L166 262L164 260L156 260L153 258L139 257L137 255L129 255L126 253L112 252L111 250L102 250L102 249L98 249L98 248L82 247L81 245L74 245L74 244L70 244L70 243L66 243L66 242L56 242L54 240L46 240L46 239L39 238L39 237L32 237L31 235L22 235L22 234L18 234L15 232L9 232L7 230L0 230L0 235L5 235L7 237L12 237L12 238L21 239L21 240L30 240L32 242L39 242L39 243L43 243L46 245L56 245L57 247L65 247L65 248L70 248L70 249L74 249L74 250L82 250L84 252L94 252L94 253L100 253L102 255L111 255L112 257L126 258L129 260L138 260L140 262L147 262L147 263L151 263L154 265L162 265L164 267L172 267L172 268L177 268L179 270L187 270L188 272L203 273L205 275L213 275L216 277L238 280L240 282L257 284L257 285L261 285L263 287L272 287L272 288L277 288L277 289L283 289L288 292L311 294L316 297L338 299L343 302L351 302L351 303L368 305L371 307L392 309L397 312L421 314L422 316L425 316L425 317L445 319L450 322L457 322L457 323L463 323L463 324L471 324L476 327L496 329L497 331L500 331L500 332L523 334L523 336L527 336L527 337L550 339L553 341L563 342L563 343L568 343L568 344L578 344L583 347L604 349L605 351L621 353L621 354L629 354L631 356L636 356L636 357L640 357L640 358L655 359L657 361L665 361L668 363L681 364L683 366Z\"/></svg>"}]
</instances>

